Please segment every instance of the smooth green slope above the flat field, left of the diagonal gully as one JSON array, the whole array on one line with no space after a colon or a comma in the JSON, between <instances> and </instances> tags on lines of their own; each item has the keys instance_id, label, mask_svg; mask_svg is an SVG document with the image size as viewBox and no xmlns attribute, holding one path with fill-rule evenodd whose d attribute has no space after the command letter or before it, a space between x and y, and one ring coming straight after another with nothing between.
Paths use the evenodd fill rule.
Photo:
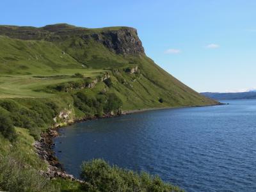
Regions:
<instances>
[{"instance_id":1,"label":"smooth green slope above the flat field, left of the diagonal gully","mask_svg":"<svg viewBox=\"0 0 256 192\"><path fill-rule=\"evenodd\" d=\"M0 36L0 74L52 74L62 68L83 68L54 44Z\"/></svg>"}]
</instances>

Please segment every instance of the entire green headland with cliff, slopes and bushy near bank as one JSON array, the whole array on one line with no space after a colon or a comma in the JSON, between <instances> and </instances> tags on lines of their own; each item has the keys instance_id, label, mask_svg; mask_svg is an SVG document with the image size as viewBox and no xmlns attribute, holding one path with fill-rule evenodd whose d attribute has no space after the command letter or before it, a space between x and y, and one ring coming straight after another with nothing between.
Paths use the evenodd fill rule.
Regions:
<instances>
[{"instance_id":1,"label":"entire green headland with cliff, slopes and bushy near bank","mask_svg":"<svg viewBox=\"0 0 256 192\"><path fill-rule=\"evenodd\" d=\"M47 166L36 156L32 143L50 127L84 118L134 109L213 104L217 102L196 93L150 60L136 29L88 29L68 24L0 26L0 160L4 162L0 189L93 191L111 188L112 183L105 182L111 177L120 181L113 186L118 189L180 191L158 178L111 168L102 161L83 167L84 174L90 169L102 173L100 168L106 168L109 175L90 175L98 186L95 180L88 180L92 184L86 186L41 176L29 180L28 175L36 175ZM15 162L19 171L7 172L12 167L9 161ZM15 177L5 182L4 174ZM125 184L129 174L131 180ZM12 186L12 180L23 186Z\"/></svg>"}]
</instances>

